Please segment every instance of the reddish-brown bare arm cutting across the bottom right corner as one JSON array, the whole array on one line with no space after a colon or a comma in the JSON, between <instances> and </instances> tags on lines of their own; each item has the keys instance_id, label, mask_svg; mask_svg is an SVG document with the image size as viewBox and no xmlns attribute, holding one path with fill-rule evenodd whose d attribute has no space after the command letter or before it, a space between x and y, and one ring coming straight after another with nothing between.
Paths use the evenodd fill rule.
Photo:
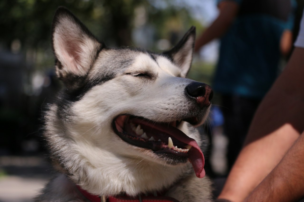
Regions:
<instances>
[{"instance_id":1,"label":"reddish-brown bare arm cutting across the bottom right corner","mask_svg":"<svg viewBox=\"0 0 304 202\"><path fill-rule=\"evenodd\" d=\"M304 133L281 162L245 199L254 201L299 201L304 197Z\"/></svg>"}]
</instances>

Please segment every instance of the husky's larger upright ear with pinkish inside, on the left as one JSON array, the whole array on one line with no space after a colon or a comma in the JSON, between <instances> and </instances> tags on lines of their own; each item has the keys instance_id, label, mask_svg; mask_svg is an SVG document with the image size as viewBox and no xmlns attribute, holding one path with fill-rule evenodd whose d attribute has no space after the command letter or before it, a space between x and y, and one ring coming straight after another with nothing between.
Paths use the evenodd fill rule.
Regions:
<instances>
[{"instance_id":1,"label":"husky's larger upright ear with pinkish inside, on the left","mask_svg":"<svg viewBox=\"0 0 304 202\"><path fill-rule=\"evenodd\" d=\"M66 86L77 86L104 45L69 10L59 7L52 24L56 74Z\"/></svg>"}]
</instances>

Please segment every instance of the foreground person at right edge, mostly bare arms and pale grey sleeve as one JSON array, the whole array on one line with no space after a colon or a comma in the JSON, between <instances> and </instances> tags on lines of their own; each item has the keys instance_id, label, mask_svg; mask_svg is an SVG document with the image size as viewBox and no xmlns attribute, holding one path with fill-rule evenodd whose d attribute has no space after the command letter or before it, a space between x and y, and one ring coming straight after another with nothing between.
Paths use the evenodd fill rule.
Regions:
<instances>
[{"instance_id":1,"label":"foreground person at right edge, mostly bare arms and pale grey sleeve","mask_svg":"<svg viewBox=\"0 0 304 202\"><path fill-rule=\"evenodd\" d=\"M303 75L304 17L287 67L258 107L218 201L304 197Z\"/></svg>"}]
</instances>

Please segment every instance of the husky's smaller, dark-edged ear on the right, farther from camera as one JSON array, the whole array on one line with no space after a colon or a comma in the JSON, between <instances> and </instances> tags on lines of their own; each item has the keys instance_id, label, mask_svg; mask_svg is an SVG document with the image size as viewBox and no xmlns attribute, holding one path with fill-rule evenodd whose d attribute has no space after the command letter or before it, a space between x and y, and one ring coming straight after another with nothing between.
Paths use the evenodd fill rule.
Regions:
<instances>
[{"instance_id":1,"label":"husky's smaller, dark-edged ear on the right, farther from camera","mask_svg":"<svg viewBox=\"0 0 304 202\"><path fill-rule=\"evenodd\" d=\"M181 77L186 77L192 62L195 44L195 27L192 26L184 37L171 50L163 54L168 55L181 69Z\"/></svg>"}]
</instances>

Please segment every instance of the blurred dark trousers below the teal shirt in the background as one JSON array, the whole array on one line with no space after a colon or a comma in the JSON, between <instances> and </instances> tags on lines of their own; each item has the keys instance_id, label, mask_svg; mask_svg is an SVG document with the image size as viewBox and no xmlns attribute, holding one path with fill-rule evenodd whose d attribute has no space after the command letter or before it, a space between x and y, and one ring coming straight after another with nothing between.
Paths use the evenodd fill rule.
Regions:
<instances>
[{"instance_id":1,"label":"blurred dark trousers below the teal shirt in the background","mask_svg":"<svg viewBox=\"0 0 304 202\"><path fill-rule=\"evenodd\" d=\"M241 96L222 96L224 134L229 143L227 148L228 171L230 171L243 146L254 113L261 99Z\"/></svg>"}]
</instances>

